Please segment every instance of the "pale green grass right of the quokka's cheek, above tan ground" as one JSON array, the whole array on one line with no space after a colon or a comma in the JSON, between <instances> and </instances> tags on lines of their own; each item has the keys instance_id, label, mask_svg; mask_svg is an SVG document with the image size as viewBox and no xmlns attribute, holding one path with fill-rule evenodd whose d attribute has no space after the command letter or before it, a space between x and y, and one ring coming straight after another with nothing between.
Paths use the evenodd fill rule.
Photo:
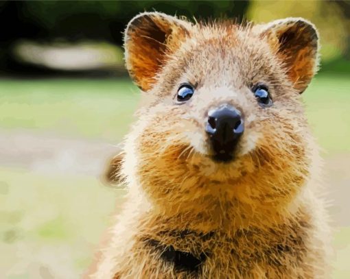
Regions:
<instances>
[{"instance_id":1,"label":"pale green grass right of the quokka's cheek, above tan ground","mask_svg":"<svg viewBox=\"0 0 350 279\"><path fill-rule=\"evenodd\" d=\"M350 75L319 75L303 93L307 118L329 154L350 151Z\"/></svg>"}]
</instances>

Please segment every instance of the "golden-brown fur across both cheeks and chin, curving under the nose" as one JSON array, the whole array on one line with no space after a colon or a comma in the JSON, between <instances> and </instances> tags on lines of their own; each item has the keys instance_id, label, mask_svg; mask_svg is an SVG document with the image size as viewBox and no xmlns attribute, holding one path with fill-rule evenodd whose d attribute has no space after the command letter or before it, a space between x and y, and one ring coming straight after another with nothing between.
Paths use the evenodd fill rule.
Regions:
<instances>
[{"instance_id":1,"label":"golden-brown fur across both cheeks and chin, curving under the nose","mask_svg":"<svg viewBox=\"0 0 350 279\"><path fill-rule=\"evenodd\" d=\"M189 134L198 131L198 125L184 120L176 108L163 108L140 121L132 146L137 147L135 175L143 191L161 210L172 208L174 213L191 211L194 205L210 210L218 200L246 212L288 204L308 173L306 129L303 119L279 111L252 123L250 132L259 134L254 149L229 164L196 151Z\"/></svg>"}]
</instances>

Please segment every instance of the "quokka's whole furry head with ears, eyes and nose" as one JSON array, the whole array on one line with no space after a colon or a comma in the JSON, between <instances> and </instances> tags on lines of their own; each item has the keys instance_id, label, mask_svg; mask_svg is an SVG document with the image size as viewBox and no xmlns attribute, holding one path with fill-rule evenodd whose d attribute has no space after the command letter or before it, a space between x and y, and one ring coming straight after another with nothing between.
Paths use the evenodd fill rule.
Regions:
<instances>
[{"instance_id":1,"label":"quokka's whole furry head with ears, eyes and nose","mask_svg":"<svg viewBox=\"0 0 350 279\"><path fill-rule=\"evenodd\" d=\"M311 23L150 12L130 21L125 49L145 99L121 168L131 186L164 210L288 204L312 163L300 97L318 63Z\"/></svg>"}]
</instances>

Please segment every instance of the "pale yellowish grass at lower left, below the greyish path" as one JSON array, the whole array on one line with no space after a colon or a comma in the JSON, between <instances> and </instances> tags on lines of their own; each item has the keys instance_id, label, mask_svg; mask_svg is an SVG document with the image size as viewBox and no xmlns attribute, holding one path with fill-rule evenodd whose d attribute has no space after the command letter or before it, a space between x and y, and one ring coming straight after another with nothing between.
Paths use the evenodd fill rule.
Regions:
<instances>
[{"instance_id":1,"label":"pale yellowish grass at lower left, below the greyish path","mask_svg":"<svg viewBox=\"0 0 350 279\"><path fill-rule=\"evenodd\" d=\"M0 168L0 182L8 186L0 193L0 274L5 278L38 278L41 269L54 278L77 278L124 198L123 190L87 175Z\"/></svg>"}]
</instances>

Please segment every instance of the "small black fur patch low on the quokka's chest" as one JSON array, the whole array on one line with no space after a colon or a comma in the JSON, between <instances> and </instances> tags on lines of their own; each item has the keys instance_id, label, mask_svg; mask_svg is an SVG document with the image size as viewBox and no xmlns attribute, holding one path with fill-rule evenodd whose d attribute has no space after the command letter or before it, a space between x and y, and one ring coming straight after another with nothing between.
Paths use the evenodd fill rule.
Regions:
<instances>
[{"instance_id":1,"label":"small black fur patch low on the quokka's chest","mask_svg":"<svg viewBox=\"0 0 350 279\"><path fill-rule=\"evenodd\" d=\"M147 242L161 253L161 258L165 262L172 263L176 271L199 272L200 266L207 259L204 253L198 257L189 252L175 250L172 245L164 245L154 239L149 239Z\"/></svg>"}]
</instances>

